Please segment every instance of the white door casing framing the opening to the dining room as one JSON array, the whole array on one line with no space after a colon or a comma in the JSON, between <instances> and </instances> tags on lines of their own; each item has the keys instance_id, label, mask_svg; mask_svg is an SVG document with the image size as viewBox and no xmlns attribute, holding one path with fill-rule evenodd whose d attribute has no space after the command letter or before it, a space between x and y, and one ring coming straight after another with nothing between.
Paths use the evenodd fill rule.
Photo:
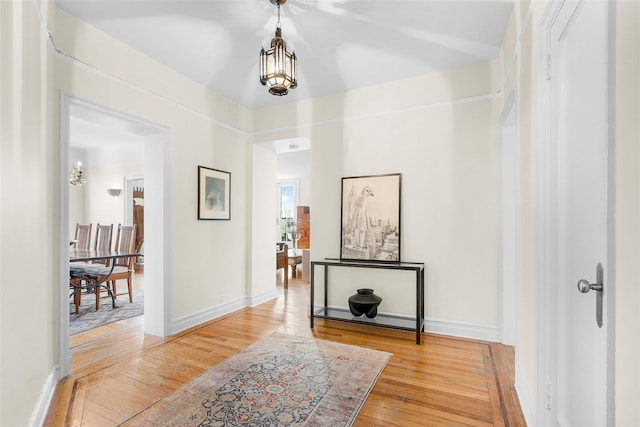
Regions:
<instances>
[{"instance_id":1,"label":"white door casing framing the opening to the dining room","mask_svg":"<svg viewBox=\"0 0 640 427\"><path fill-rule=\"evenodd\" d=\"M165 127L149 123L139 118L98 106L96 104L78 99L68 94L60 95L60 216L59 216L59 351L60 374L62 377L69 374L70 349L69 349L69 260L68 260L68 236L71 233L70 222L72 213L70 209L71 191L69 185L70 155L75 150L72 148L72 134L79 131L77 120L90 125L108 126L118 129L120 132L137 135L140 139L139 150L142 153L142 168L146 178L145 206L153 215L146 215L146 269L145 269L145 298L144 298L144 332L156 336L170 334L170 266L167 262L170 253L170 173L168 166L169 157L169 130ZM95 144L106 144L105 141L96 139ZM120 147L119 150L123 148ZM132 152L133 147L127 147ZM77 153L76 153L77 154ZM113 184L106 184L107 186ZM119 186L125 186L126 180L120 178ZM103 192L109 188L104 188ZM94 190L98 191L98 190ZM91 195L89 195L91 197ZM121 196L122 197L122 196ZM87 203L85 203L85 206ZM124 209L120 215L126 215ZM124 220L123 220L124 222Z\"/></svg>"}]
</instances>

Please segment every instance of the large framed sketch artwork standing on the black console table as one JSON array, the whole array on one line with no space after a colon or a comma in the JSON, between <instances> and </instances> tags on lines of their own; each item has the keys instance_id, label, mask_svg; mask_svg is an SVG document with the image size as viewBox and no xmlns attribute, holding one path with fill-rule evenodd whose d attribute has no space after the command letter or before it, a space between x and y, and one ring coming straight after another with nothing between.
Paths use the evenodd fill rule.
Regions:
<instances>
[{"instance_id":1,"label":"large framed sketch artwork standing on the black console table","mask_svg":"<svg viewBox=\"0 0 640 427\"><path fill-rule=\"evenodd\" d=\"M342 178L340 259L400 262L401 178Z\"/></svg>"}]
</instances>

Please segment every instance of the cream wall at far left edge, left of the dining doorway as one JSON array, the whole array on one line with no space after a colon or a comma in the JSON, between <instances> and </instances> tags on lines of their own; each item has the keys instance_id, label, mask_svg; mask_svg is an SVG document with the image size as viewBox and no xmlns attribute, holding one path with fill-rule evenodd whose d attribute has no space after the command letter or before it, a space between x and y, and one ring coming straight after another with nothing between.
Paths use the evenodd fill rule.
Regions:
<instances>
[{"instance_id":1,"label":"cream wall at far left edge, left of the dining doorway","mask_svg":"<svg viewBox=\"0 0 640 427\"><path fill-rule=\"evenodd\" d=\"M0 425L41 418L58 353L54 58L34 5L0 2ZM66 236L64 236L66 239Z\"/></svg>"}]
</instances>

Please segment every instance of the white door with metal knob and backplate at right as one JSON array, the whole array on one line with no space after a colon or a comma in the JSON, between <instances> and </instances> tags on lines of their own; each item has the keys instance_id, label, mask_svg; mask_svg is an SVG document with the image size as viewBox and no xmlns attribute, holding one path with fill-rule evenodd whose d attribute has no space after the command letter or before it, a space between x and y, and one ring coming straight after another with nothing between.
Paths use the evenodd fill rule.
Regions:
<instances>
[{"instance_id":1,"label":"white door with metal knob and backplate at right","mask_svg":"<svg viewBox=\"0 0 640 427\"><path fill-rule=\"evenodd\" d=\"M562 426L605 426L608 416L607 367L613 360L607 360L608 325L596 321L602 299L607 323L608 10L608 2L567 1L550 32L557 364L549 405L551 421ZM579 292L579 280L596 282L598 264L604 291ZM583 292L589 290L585 284Z\"/></svg>"}]
</instances>

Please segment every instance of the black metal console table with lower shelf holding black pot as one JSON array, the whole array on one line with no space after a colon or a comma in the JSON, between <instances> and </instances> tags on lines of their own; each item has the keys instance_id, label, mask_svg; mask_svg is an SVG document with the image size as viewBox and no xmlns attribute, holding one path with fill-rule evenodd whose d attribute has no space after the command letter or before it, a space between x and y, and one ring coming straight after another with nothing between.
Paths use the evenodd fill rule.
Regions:
<instances>
[{"instance_id":1,"label":"black metal console table with lower shelf holding black pot","mask_svg":"<svg viewBox=\"0 0 640 427\"><path fill-rule=\"evenodd\" d=\"M317 265L324 266L324 306L316 309L314 306L314 273ZM409 270L416 272L416 316L393 316L378 314L373 319L365 316L356 317L348 309L328 307L328 283L329 267L351 267L351 268L381 268L385 270ZM416 344L420 344L420 333L424 329L424 263L420 262L358 262L342 261L340 259L325 258L324 261L311 262L311 316L310 323L313 328L314 317L332 320L342 320L345 322L364 323L367 325L384 326L388 328L415 330Z\"/></svg>"}]
</instances>

